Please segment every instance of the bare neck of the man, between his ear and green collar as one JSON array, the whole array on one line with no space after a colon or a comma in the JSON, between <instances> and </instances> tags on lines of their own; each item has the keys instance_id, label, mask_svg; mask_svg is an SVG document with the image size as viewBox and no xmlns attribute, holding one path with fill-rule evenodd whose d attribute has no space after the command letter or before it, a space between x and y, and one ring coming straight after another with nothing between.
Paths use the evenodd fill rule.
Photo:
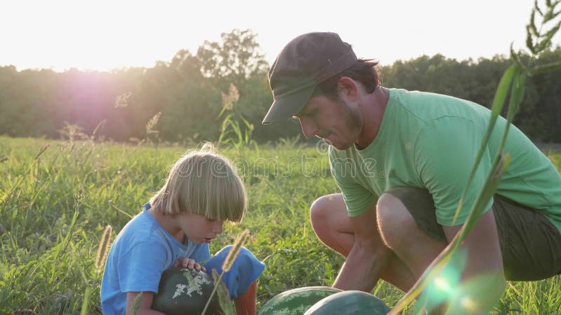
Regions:
<instances>
[{"instance_id":1,"label":"bare neck of the man, between his ear and green collar","mask_svg":"<svg viewBox=\"0 0 561 315\"><path fill-rule=\"evenodd\" d=\"M378 86L374 92L364 97L363 104L360 106L363 112L363 132L355 141L359 150L363 150L376 139L381 120L384 118L389 95L390 91L386 87Z\"/></svg>"}]
</instances>

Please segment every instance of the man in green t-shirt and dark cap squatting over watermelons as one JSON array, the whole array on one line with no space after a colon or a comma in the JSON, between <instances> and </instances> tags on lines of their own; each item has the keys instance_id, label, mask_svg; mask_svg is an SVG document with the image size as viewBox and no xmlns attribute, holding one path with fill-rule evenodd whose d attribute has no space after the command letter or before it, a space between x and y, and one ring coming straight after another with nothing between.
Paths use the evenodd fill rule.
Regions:
<instances>
[{"instance_id":1,"label":"man in green t-shirt and dark cap squatting over watermelons","mask_svg":"<svg viewBox=\"0 0 561 315\"><path fill-rule=\"evenodd\" d=\"M313 202L311 223L324 244L346 257L333 286L370 291L384 279L407 291L466 220L506 120L497 120L454 221L490 111L454 97L382 87L374 66L357 59L337 34L298 36L271 66L274 102L263 123L292 117L306 138L330 144L342 194ZM461 246L462 283L486 275L491 284L478 288L479 296L472 292L478 303L464 303L456 313L488 311L505 279L561 272L561 175L514 126L504 150L511 165Z\"/></svg>"}]
</instances>

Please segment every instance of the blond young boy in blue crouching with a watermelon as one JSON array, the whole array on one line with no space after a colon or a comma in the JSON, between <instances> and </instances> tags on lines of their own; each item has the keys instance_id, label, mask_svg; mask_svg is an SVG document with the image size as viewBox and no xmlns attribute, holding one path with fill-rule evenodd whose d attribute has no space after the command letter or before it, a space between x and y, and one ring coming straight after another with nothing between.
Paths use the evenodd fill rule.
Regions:
<instances>
[{"instance_id":1,"label":"blond young boy in blue crouching with a watermelon","mask_svg":"<svg viewBox=\"0 0 561 315\"><path fill-rule=\"evenodd\" d=\"M224 221L239 223L245 207L240 177L212 145L184 155L173 165L163 188L112 244L101 285L103 313L129 314L131 303L142 292L139 314L162 314L150 307L161 275L170 267L222 272L230 247L210 258L208 244L222 233ZM205 267L197 263L205 260ZM263 269L264 264L242 248L224 273L222 281L237 314L255 314L257 277Z\"/></svg>"}]
</instances>

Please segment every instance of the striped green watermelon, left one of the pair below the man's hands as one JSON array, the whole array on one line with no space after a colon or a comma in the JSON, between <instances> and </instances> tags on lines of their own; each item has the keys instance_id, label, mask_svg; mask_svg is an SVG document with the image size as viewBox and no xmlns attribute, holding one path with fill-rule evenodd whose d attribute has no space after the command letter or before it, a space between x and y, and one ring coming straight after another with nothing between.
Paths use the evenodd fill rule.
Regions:
<instances>
[{"instance_id":1,"label":"striped green watermelon, left one of the pair below the man's hands","mask_svg":"<svg viewBox=\"0 0 561 315\"><path fill-rule=\"evenodd\" d=\"M302 315L319 300L338 292L342 290L330 286L306 286L288 290L266 302L259 309L258 315Z\"/></svg>"}]
</instances>

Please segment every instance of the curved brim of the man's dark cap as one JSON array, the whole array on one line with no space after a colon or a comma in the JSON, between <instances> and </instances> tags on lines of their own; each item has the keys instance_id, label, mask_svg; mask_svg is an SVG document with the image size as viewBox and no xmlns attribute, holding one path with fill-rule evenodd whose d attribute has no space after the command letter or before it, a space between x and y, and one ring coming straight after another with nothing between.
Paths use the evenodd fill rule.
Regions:
<instances>
[{"instance_id":1,"label":"curved brim of the man's dark cap","mask_svg":"<svg viewBox=\"0 0 561 315\"><path fill-rule=\"evenodd\" d=\"M289 120L299 111L302 111L315 89L316 86L313 85L288 96L275 99L273 104L271 104L269 112L267 112L265 118L263 118L262 124L268 125L276 121Z\"/></svg>"}]
</instances>

